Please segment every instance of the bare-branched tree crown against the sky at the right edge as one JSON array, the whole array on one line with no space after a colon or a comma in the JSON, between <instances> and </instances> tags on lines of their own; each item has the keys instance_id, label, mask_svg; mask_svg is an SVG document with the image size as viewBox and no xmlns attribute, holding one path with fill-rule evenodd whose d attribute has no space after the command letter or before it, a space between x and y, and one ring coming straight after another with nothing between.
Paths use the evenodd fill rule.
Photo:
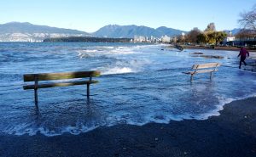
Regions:
<instances>
[{"instance_id":1,"label":"bare-branched tree crown against the sky at the right edge","mask_svg":"<svg viewBox=\"0 0 256 157\"><path fill-rule=\"evenodd\" d=\"M256 5L253 6L253 9L248 12L240 14L241 19L238 20L239 24L245 30L256 31Z\"/></svg>"}]
</instances>

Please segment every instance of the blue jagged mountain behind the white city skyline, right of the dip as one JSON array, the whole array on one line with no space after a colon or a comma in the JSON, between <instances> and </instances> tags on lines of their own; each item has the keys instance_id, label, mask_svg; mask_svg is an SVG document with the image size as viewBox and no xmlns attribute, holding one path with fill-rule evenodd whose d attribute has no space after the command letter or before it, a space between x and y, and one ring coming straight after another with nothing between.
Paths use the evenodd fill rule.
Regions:
<instances>
[{"instance_id":1,"label":"blue jagged mountain behind the white city skyline, right of the dip","mask_svg":"<svg viewBox=\"0 0 256 157\"><path fill-rule=\"evenodd\" d=\"M103 26L98 31L92 33L93 36L103 36L103 37L129 37L134 36L177 36L181 35L182 32L167 27L159 27L157 29L150 28L148 26L137 26L137 25L106 25Z\"/></svg>"}]
</instances>

